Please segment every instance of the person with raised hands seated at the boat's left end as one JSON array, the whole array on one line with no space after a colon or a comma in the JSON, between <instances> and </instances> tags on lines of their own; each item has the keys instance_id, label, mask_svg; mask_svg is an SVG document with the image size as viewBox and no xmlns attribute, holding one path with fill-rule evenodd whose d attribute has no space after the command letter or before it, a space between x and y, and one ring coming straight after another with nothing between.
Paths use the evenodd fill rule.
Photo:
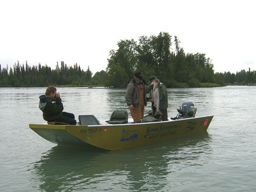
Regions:
<instances>
[{"instance_id":1,"label":"person with raised hands seated at the boat's left end","mask_svg":"<svg viewBox=\"0 0 256 192\"><path fill-rule=\"evenodd\" d=\"M62 112L63 104L60 94L53 86L46 89L45 95L39 97L39 109L42 111L42 117L48 122L61 122L67 124L76 124L75 116L72 113Z\"/></svg>"}]
</instances>

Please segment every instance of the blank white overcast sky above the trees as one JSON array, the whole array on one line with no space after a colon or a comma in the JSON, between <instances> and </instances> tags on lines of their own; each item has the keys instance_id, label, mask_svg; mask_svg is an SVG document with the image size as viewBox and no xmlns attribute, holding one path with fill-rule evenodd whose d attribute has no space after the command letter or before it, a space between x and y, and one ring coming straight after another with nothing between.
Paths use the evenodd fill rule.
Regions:
<instances>
[{"instance_id":1,"label":"blank white overcast sky above the trees","mask_svg":"<svg viewBox=\"0 0 256 192\"><path fill-rule=\"evenodd\" d=\"M105 70L120 39L168 32L185 53L205 53L215 72L256 70L254 1L1 0L0 64L77 62Z\"/></svg>"}]
</instances>

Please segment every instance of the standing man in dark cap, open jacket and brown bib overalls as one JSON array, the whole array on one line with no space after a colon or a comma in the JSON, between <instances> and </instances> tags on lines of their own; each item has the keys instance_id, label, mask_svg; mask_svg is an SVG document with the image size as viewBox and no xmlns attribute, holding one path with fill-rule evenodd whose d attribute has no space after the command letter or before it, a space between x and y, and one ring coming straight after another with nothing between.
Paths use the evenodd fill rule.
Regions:
<instances>
[{"instance_id":1,"label":"standing man in dark cap, open jacket and brown bib overalls","mask_svg":"<svg viewBox=\"0 0 256 192\"><path fill-rule=\"evenodd\" d=\"M146 93L149 93L153 89L152 84L145 86L145 80L143 79L142 74L136 72L134 73L134 78L127 86L125 100L127 105L129 105L134 122L139 121L144 116Z\"/></svg>"}]
</instances>

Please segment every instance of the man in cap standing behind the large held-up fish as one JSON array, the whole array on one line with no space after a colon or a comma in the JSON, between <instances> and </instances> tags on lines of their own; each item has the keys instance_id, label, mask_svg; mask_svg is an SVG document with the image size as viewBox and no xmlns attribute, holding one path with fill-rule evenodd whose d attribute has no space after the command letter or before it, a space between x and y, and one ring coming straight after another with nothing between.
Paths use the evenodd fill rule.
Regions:
<instances>
[{"instance_id":1,"label":"man in cap standing behind the large held-up fish","mask_svg":"<svg viewBox=\"0 0 256 192\"><path fill-rule=\"evenodd\" d=\"M159 81L155 75L152 75L148 79L148 84L152 84L154 81ZM160 101L159 101L159 110L162 112L162 115L160 117L156 117L157 119L161 119L162 121L168 121L168 114L167 114L167 108L168 108L168 95L166 87L163 83L160 82ZM150 92L150 99L148 101L152 102L152 116L155 117L156 113L156 107L154 106L154 99L152 98L153 91ZM157 116L157 115L156 115Z\"/></svg>"}]
</instances>

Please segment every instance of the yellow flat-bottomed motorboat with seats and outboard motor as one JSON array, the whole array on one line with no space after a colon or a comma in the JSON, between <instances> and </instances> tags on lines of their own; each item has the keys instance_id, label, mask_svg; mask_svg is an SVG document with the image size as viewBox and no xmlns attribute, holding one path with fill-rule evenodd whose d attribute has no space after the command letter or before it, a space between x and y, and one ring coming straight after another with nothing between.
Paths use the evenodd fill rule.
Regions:
<instances>
[{"instance_id":1,"label":"yellow flat-bottomed motorboat with seats and outboard motor","mask_svg":"<svg viewBox=\"0 0 256 192\"><path fill-rule=\"evenodd\" d=\"M100 124L94 115L80 115L77 125L48 123L29 124L29 127L42 138L58 145L78 144L88 148L121 150L207 132L214 115L195 117L196 108L192 105L189 105L186 113L184 111L184 109L178 110L179 114L176 118L168 121L157 119L146 121L146 118L144 118L145 120L142 118L141 121L134 123L127 120L126 111L114 111L110 120L105 124ZM189 112L191 116L189 116ZM182 113L184 114L182 115ZM125 117L122 120L115 119L115 114Z\"/></svg>"}]
</instances>

